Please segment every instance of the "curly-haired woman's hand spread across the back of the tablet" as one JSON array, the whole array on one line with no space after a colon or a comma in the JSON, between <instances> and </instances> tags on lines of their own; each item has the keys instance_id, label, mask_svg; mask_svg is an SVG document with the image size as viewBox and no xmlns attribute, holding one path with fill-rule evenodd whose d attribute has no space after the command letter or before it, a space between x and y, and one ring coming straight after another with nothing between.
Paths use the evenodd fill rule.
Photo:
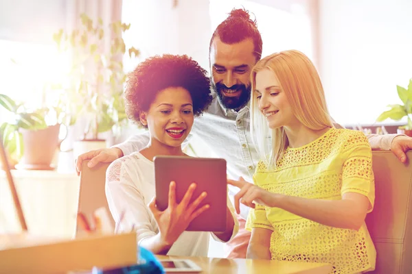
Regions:
<instances>
[{"instance_id":1,"label":"curly-haired woman's hand spread across the back of the tablet","mask_svg":"<svg viewBox=\"0 0 412 274\"><path fill-rule=\"evenodd\" d=\"M163 211L157 209L155 197L150 201L150 211L155 216L161 241L165 245L172 246L190 222L209 208L209 205L198 208L201 201L205 199L206 192L203 192L193 203L190 203L195 189L196 184L191 184L181 203L176 203L176 183L171 182L169 185L168 208Z\"/></svg>"}]
</instances>

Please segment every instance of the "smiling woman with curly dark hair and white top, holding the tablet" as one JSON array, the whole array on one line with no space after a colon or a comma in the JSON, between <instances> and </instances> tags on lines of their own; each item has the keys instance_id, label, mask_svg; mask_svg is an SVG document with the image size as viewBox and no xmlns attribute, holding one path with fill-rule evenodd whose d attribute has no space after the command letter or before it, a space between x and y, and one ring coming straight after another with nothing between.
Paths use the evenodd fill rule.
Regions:
<instances>
[{"instance_id":1,"label":"smiling woman with curly dark hair and white top, holding the tablet","mask_svg":"<svg viewBox=\"0 0 412 274\"><path fill-rule=\"evenodd\" d=\"M211 103L206 74L186 55L163 55L148 58L128 75L126 113L129 119L148 128L150 142L141 151L119 158L108 167L106 197L117 231L130 231L133 227L137 244L153 253L207 256L209 233L185 232L190 222L207 210L208 205L198 208L207 193L190 203L196 188L192 184L186 192L187 199L176 203L171 195L170 206L159 211L152 162L157 155L185 155L181 145L192 129L194 116L202 114ZM172 182L170 193L174 190ZM238 230L229 199L227 211L227 231L212 234L216 240L227 241Z\"/></svg>"}]
</instances>

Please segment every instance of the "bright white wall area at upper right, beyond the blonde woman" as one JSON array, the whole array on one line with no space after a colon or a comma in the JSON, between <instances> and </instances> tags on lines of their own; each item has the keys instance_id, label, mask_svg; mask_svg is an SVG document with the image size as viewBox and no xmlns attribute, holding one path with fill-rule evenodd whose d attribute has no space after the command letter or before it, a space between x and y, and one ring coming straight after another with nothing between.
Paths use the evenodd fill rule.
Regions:
<instances>
[{"instance_id":1,"label":"bright white wall area at upper right, beyond the blonde woman","mask_svg":"<svg viewBox=\"0 0 412 274\"><path fill-rule=\"evenodd\" d=\"M412 1L320 0L321 78L343 124L374 123L412 77Z\"/></svg>"}]
</instances>

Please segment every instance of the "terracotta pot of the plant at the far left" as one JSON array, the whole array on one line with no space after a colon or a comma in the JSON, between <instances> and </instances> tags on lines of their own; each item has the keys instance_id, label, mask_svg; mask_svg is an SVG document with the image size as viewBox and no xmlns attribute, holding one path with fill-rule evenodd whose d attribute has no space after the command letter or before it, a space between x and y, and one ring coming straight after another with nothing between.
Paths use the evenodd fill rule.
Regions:
<instances>
[{"instance_id":1,"label":"terracotta pot of the plant at the far left","mask_svg":"<svg viewBox=\"0 0 412 274\"><path fill-rule=\"evenodd\" d=\"M45 129L21 129L23 136L23 158L16 169L53 170L52 160L62 140L58 139L60 124Z\"/></svg>"}]
</instances>

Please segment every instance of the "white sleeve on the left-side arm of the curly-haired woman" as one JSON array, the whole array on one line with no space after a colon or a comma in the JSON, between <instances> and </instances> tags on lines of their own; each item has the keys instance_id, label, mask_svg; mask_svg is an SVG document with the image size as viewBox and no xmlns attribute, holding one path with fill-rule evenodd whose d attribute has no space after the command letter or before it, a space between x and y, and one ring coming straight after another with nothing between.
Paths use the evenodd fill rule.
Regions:
<instances>
[{"instance_id":1,"label":"white sleeve on the left-side arm of the curly-haired woman","mask_svg":"<svg viewBox=\"0 0 412 274\"><path fill-rule=\"evenodd\" d=\"M141 191L133 184L133 175L125 171L125 160L115 160L106 171L106 199L118 232L137 233L137 243L157 234L157 224L144 201ZM122 220L120 216L124 214Z\"/></svg>"}]
</instances>

